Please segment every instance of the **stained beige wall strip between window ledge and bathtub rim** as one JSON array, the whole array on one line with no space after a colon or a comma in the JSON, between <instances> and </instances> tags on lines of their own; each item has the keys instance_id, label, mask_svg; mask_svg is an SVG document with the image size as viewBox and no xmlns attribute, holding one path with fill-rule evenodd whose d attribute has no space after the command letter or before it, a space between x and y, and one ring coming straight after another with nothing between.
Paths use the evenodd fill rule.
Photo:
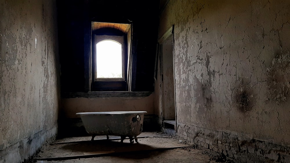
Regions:
<instances>
[{"instance_id":1,"label":"stained beige wall strip between window ledge and bathtub rim","mask_svg":"<svg viewBox=\"0 0 290 163\"><path fill-rule=\"evenodd\" d=\"M155 114L153 95L62 98L61 107L65 118L79 118L75 114L79 112L99 111L147 111L147 114Z\"/></svg>"}]
</instances>

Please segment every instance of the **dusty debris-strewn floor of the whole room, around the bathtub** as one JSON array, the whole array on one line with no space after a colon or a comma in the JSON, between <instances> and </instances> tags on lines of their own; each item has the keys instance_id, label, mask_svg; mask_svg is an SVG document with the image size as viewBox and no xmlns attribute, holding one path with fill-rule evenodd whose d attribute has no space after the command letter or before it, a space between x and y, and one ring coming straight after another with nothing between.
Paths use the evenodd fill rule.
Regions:
<instances>
[{"instance_id":1,"label":"dusty debris-strewn floor of the whole room, around the bathtub","mask_svg":"<svg viewBox=\"0 0 290 163\"><path fill-rule=\"evenodd\" d=\"M212 155L197 146L161 133L142 133L138 136L138 143L133 144L128 139L121 143L119 137L115 136L110 136L111 140L106 140L106 136L97 136L94 142L90 138L56 140L41 150L34 162L229 162L222 155Z\"/></svg>"}]
</instances>

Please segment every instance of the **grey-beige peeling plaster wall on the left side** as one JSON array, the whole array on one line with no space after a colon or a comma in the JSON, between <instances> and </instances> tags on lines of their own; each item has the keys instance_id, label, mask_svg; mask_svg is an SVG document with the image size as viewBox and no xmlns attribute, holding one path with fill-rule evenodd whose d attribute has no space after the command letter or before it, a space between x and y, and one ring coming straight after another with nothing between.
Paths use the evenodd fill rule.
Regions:
<instances>
[{"instance_id":1,"label":"grey-beige peeling plaster wall on the left side","mask_svg":"<svg viewBox=\"0 0 290 163\"><path fill-rule=\"evenodd\" d=\"M0 0L0 162L22 162L57 133L55 1Z\"/></svg>"}]
</instances>

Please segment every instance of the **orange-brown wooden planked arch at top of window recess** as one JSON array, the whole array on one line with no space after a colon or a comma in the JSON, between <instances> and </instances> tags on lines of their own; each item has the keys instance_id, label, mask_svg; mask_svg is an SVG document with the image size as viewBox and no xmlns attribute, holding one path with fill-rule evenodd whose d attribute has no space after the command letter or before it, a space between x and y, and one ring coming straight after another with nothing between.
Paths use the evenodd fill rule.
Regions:
<instances>
[{"instance_id":1,"label":"orange-brown wooden planked arch at top of window recess","mask_svg":"<svg viewBox=\"0 0 290 163\"><path fill-rule=\"evenodd\" d=\"M100 28L115 28L124 33L128 33L130 27L131 27L130 24L92 22L92 30L97 30Z\"/></svg>"}]
</instances>

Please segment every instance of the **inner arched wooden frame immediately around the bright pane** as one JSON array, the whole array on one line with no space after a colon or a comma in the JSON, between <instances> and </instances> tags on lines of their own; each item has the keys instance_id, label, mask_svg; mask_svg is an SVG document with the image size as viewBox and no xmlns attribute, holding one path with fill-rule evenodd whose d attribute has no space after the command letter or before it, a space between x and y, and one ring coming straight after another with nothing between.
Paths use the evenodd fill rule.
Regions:
<instances>
[{"instance_id":1,"label":"inner arched wooden frame immediately around the bright pane","mask_svg":"<svg viewBox=\"0 0 290 163\"><path fill-rule=\"evenodd\" d=\"M110 36L110 35L93 35L93 52L92 52L92 58L93 58L93 82L95 81L126 81L126 51L125 51L125 40L124 36ZM116 41L121 44L122 46L122 78L97 78L97 43L105 40L112 40Z\"/></svg>"}]
</instances>

